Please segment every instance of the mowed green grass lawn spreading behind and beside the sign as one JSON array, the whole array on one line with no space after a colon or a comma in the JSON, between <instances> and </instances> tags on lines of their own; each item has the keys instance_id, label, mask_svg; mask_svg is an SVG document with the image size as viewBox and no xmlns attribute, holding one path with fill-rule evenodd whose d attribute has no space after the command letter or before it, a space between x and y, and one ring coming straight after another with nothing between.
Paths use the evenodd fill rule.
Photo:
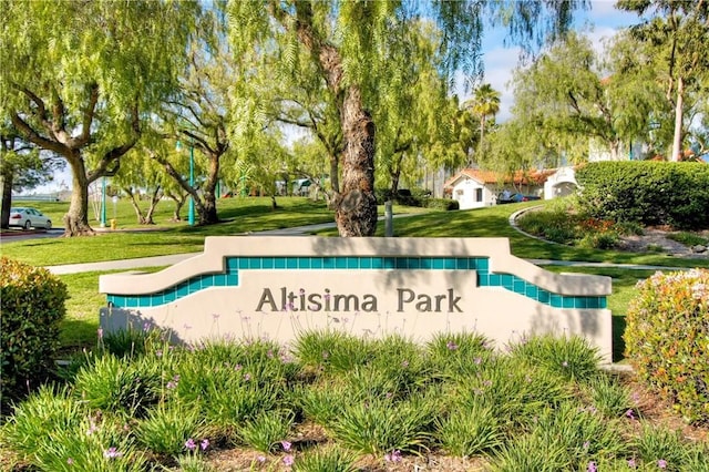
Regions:
<instances>
[{"instance_id":1,"label":"mowed green grass lawn spreading behind and beside the sign","mask_svg":"<svg viewBox=\"0 0 709 472\"><path fill-rule=\"evenodd\" d=\"M333 220L332 212L323 202L307 198L282 197L277 199L278 208L273 209L270 198L225 198L218 201L219 217L224 223L212 226L191 227L185 222L171 222L172 205L162 202L155 215L156 225L147 227L135 224L135 215L127 202L116 205L119 232L105 232L95 237L50 238L3 243L2 255L35 266L52 266L148 257L167 254L198 253L203 250L206 236L244 235L259 230L302 226ZM16 203L16 206L39 207L55 222L68 208L66 203ZM530 238L510 226L512 213L538 202L501 205L475 211L441 212L394 206L394 214L411 213L394 219L397 237L507 237L512 253L518 257L533 259L556 259L578 261L604 261L643 264L674 267L698 267L706 260L677 259L657 253L630 254L614 250L579 249ZM111 205L111 204L110 204ZM183 212L185 213L185 212ZM383 208L380 208L383 214ZM113 217L111 206L109 218ZM95 225L99 226L97 224ZM378 236L383 236L384 225L378 227ZM337 230L325 230L325 236L336 236ZM599 267L547 266L554 271L580 271L613 277L613 295L608 298L614 314L615 360L621 358L621 332L627 304L633 297L638 280L647 278L653 270L631 270ZM141 268L137 268L141 269ZM158 268L141 269L157 270ZM105 305L105 297L99 294L99 276L107 273L83 273L62 275L60 278L69 288L66 304L68 318L62 332L65 351L89 347L96 341L99 309Z\"/></svg>"}]
</instances>

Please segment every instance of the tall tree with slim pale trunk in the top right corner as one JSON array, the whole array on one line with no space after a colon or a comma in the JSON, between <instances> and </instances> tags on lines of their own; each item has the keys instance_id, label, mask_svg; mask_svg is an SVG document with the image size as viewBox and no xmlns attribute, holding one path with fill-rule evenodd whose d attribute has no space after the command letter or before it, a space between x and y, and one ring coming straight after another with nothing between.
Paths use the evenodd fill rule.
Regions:
<instances>
[{"instance_id":1,"label":"tall tree with slim pale trunk in the top right corner","mask_svg":"<svg viewBox=\"0 0 709 472\"><path fill-rule=\"evenodd\" d=\"M686 133L685 113L693 104L686 101L692 90L709 90L709 2L678 0L619 0L617 8L639 16L655 12L655 17L631 27L631 34L649 44L655 68L665 83L667 101L675 109L675 132L671 161L682 154Z\"/></svg>"}]
</instances>

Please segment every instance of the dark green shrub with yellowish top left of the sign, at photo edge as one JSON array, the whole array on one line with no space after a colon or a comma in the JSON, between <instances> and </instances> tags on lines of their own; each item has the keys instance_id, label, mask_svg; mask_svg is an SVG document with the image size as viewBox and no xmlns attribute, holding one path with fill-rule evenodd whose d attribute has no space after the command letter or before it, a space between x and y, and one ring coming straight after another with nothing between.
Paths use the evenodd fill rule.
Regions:
<instances>
[{"instance_id":1,"label":"dark green shrub with yellowish top left of the sign, at photo edge","mask_svg":"<svg viewBox=\"0 0 709 472\"><path fill-rule=\"evenodd\" d=\"M49 270L0 259L1 397L18 398L52 371L66 297L66 286Z\"/></svg>"}]
</instances>

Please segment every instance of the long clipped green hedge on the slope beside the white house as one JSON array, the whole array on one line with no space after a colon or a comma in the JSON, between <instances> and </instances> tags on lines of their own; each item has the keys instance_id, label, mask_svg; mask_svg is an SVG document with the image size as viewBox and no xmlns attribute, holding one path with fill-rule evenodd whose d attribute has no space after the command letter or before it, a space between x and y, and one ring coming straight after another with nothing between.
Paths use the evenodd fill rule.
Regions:
<instances>
[{"instance_id":1,"label":"long clipped green hedge on the slope beside the white house","mask_svg":"<svg viewBox=\"0 0 709 472\"><path fill-rule=\"evenodd\" d=\"M598 162L576 171L589 216L676 229L709 228L709 165Z\"/></svg>"}]
</instances>

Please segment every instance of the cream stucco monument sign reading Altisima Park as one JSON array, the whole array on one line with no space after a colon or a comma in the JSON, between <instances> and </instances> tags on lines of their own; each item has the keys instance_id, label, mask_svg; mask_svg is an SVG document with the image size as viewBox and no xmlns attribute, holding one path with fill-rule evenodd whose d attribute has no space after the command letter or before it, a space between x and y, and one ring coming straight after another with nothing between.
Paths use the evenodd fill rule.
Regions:
<instances>
[{"instance_id":1,"label":"cream stucco monument sign reading Altisima Park","mask_svg":"<svg viewBox=\"0 0 709 472\"><path fill-rule=\"evenodd\" d=\"M175 342L308 330L427 341L480 332L587 338L609 362L608 277L554 274L506 238L207 237L204 253L155 274L100 278L104 331L148 324Z\"/></svg>"}]
</instances>

